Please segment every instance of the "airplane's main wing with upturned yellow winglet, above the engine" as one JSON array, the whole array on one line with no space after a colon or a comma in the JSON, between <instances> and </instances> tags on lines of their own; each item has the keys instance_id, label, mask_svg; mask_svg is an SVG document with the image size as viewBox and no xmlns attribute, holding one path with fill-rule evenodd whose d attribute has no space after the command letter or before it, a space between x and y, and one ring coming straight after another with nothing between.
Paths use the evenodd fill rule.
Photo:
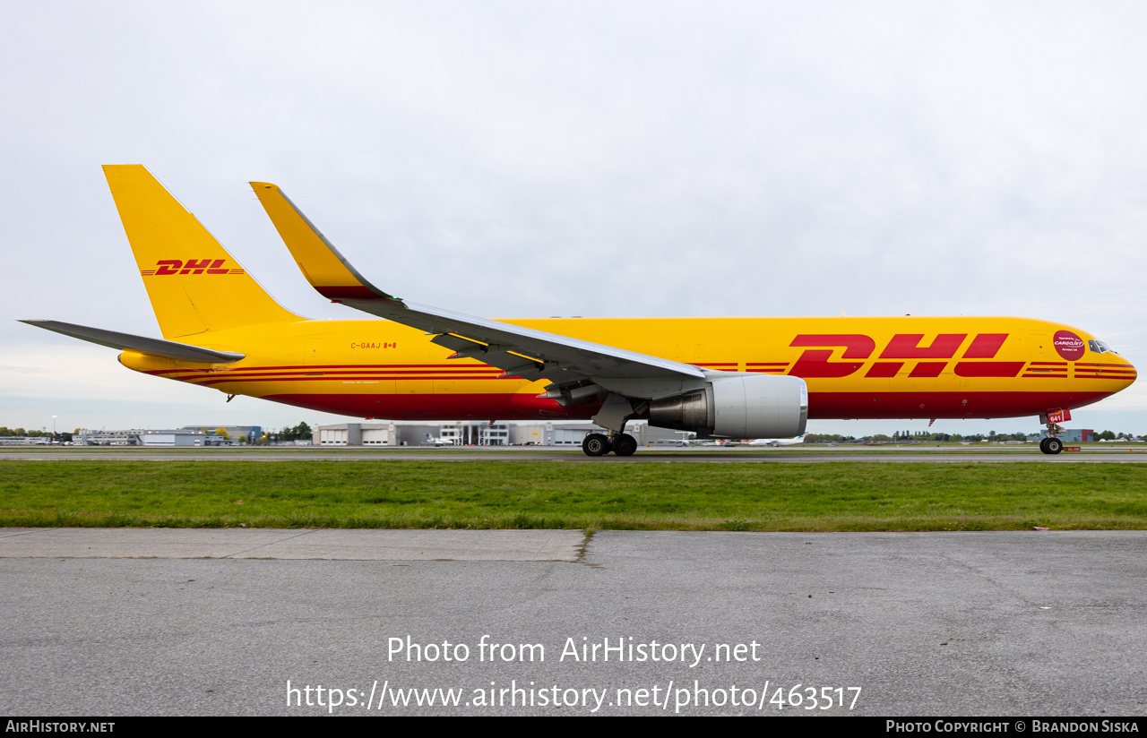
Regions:
<instances>
[{"instance_id":1,"label":"airplane's main wing with upturned yellow winglet, above the engine","mask_svg":"<svg viewBox=\"0 0 1147 738\"><path fill-rule=\"evenodd\" d=\"M693 364L406 303L359 274L276 186L251 182L251 187L303 275L320 295L434 333L434 343L454 350L452 359L476 359L505 370L504 376L546 378L557 385L600 377L695 380L707 376Z\"/></svg>"}]
</instances>

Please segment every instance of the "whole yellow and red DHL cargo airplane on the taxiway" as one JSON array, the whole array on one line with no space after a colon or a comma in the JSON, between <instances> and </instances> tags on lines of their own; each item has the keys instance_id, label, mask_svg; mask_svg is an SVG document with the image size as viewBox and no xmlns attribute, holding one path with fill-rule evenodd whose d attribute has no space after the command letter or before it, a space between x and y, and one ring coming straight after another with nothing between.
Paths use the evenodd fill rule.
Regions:
<instances>
[{"instance_id":1,"label":"whole yellow and red DHL cargo airplane on the taxiway","mask_svg":"<svg viewBox=\"0 0 1147 738\"><path fill-rule=\"evenodd\" d=\"M24 321L122 350L145 374L367 419L592 419L591 456L629 456L634 418L700 438L793 438L809 418L1040 416L1136 369L1086 331L1023 317L496 321L370 284L274 185L251 182L314 289L384 320L287 311L139 165L104 166L164 340Z\"/></svg>"}]
</instances>

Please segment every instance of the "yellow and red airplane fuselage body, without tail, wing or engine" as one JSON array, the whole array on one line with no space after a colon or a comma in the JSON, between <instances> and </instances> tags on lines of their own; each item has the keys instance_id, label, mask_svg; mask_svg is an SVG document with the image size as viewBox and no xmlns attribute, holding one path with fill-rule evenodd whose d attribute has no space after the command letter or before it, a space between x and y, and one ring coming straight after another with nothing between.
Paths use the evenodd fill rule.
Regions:
<instances>
[{"instance_id":1,"label":"yellow and red airplane fuselage body, without tail, wing or engine","mask_svg":"<svg viewBox=\"0 0 1147 738\"><path fill-rule=\"evenodd\" d=\"M1022 317L509 320L723 371L803 377L810 418L1019 417L1123 390L1136 369L1078 329ZM133 352L136 371L314 410L387 419L586 418L598 402L538 398L546 380L451 352L384 320L279 321L181 340L245 354L195 364Z\"/></svg>"}]
</instances>

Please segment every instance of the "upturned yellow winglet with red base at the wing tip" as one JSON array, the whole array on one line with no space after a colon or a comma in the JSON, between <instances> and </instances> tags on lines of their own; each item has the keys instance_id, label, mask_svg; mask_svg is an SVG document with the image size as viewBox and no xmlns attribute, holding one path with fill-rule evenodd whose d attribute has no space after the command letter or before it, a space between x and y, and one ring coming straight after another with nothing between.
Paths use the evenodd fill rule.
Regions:
<instances>
[{"instance_id":1,"label":"upturned yellow winglet with red base at the wing tip","mask_svg":"<svg viewBox=\"0 0 1147 738\"><path fill-rule=\"evenodd\" d=\"M251 182L251 189L319 295L335 303L401 303L367 282L278 186Z\"/></svg>"}]
</instances>

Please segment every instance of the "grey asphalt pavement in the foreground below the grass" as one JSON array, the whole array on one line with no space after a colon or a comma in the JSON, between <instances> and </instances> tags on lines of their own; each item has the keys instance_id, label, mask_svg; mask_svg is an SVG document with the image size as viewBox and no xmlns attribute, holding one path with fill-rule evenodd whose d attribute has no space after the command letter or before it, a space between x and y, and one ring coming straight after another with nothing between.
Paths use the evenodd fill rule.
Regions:
<instances>
[{"instance_id":1,"label":"grey asphalt pavement in the foreground below the grass","mask_svg":"<svg viewBox=\"0 0 1147 738\"><path fill-rule=\"evenodd\" d=\"M0 531L0 708L1147 712L1147 532L473 533Z\"/></svg>"}]
</instances>

